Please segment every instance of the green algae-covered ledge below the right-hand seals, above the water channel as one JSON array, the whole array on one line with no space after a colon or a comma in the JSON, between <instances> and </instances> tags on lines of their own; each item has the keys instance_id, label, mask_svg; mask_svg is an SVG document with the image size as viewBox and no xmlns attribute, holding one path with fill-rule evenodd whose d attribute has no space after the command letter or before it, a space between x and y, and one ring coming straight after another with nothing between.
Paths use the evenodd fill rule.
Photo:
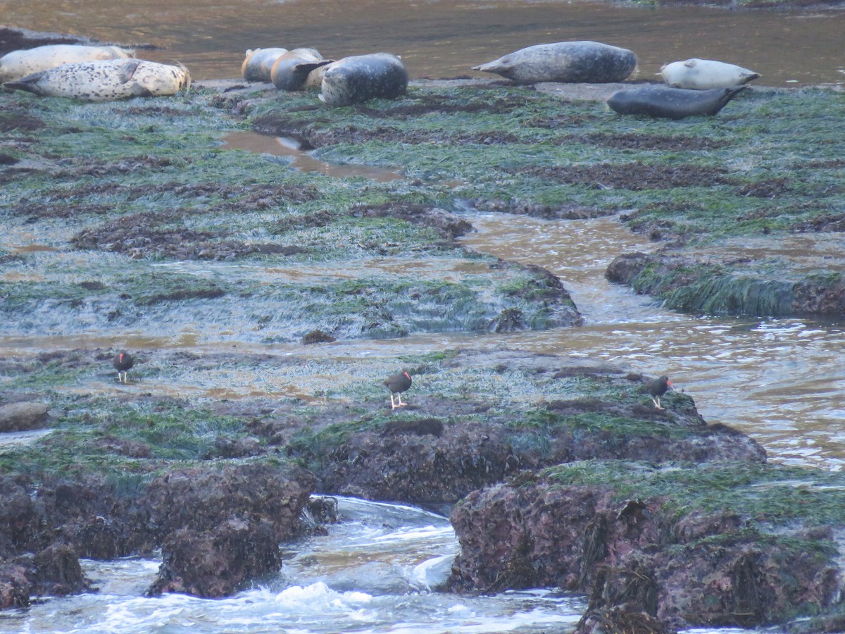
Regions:
<instances>
[{"instance_id":1,"label":"green algae-covered ledge below the right-hand seals, above the water channel","mask_svg":"<svg viewBox=\"0 0 845 634\"><path fill-rule=\"evenodd\" d=\"M835 123L842 118L842 100L833 91L751 90L717 117L680 123L602 115L595 102L561 101L512 87L497 88L495 97L492 90L479 91L472 112L444 107L472 101L472 90L418 88L401 106L357 110L348 118L321 117L319 107L286 117L289 127L300 122L308 134L328 142L318 150L327 160L403 165L406 174L425 182L456 179L462 183L456 189L462 197L480 201L568 200L602 209L636 209L632 226L669 222L673 231L699 241L764 227L787 231L782 214L774 223L737 222L759 216L772 198L780 208L802 209L803 220L837 208L836 183L841 183L842 172L837 156L843 147ZM493 112L497 99L508 104L503 112ZM406 114L415 104L416 116ZM273 110L256 114L267 119ZM384 134L385 121L393 138ZM346 140L350 128L354 142ZM446 129L463 134L444 138ZM501 139L503 129L513 138L492 142ZM802 134L794 134L795 129ZM407 139L412 139L411 151ZM607 139L627 143L613 146ZM707 139L709 145L696 139ZM820 156L811 147L819 147ZM801 167L807 161L812 167ZM595 169L583 171L597 162L603 164L605 178ZM549 173L556 176L521 173L528 167L534 172L554 167ZM708 178L714 169L723 175ZM804 205L810 200L816 210Z\"/></svg>"}]
</instances>

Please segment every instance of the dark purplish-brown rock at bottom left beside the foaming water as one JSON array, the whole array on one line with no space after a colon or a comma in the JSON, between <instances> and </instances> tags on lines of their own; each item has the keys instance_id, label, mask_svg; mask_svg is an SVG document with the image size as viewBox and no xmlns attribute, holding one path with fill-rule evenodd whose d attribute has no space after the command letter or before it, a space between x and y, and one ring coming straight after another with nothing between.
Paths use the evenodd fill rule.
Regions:
<instances>
[{"instance_id":1,"label":"dark purplish-brown rock at bottom left beside the foaming water","mask_svg":"<svg viewBox=\"0 0 845 634\"><path fill-rule=\"evenodd\" d=\"M313 484L302 469L262 463L179 469L133 495L95 475L41 486L0 478L0 608L84 590L79 556L156 548L164 562L151 594L226 596L278 570L279 544L306 529Z\"/></svg>"}]
</instances>

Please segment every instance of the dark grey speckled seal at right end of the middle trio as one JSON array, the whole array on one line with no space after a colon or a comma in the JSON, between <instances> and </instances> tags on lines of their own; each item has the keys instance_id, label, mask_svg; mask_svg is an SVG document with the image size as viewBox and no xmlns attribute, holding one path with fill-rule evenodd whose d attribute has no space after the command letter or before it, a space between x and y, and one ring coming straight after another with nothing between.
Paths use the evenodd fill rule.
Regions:
<instances>
[{"instance_id":1,"label":"dark grey speckled seal at right end of the middle trio","mask_svg":"<svg viewBox=\"0 0 845 634\"><path fill-rule=\"evenodd\" d=\"M353 55L326 66L319 98L330 106L349 106L395 99L407 87L408 71L399 57L386 52Z\"/></svg>"}]
</instances>

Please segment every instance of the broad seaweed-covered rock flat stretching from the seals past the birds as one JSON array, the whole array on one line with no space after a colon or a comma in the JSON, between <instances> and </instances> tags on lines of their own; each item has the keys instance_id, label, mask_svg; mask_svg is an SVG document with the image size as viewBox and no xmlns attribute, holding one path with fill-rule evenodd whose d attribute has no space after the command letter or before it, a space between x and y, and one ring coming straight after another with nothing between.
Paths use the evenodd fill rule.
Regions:
<instances>
[{"instance_id":1,"label":"broad seaweed-covered rock flat stretching from the seals past the birds","mask_svg":"<svg viewBox=\"0 0 845 634\"><path fill-rule=\"evenodd\" d=\"M721 425L730 421L703 421L690 396L669 394L660 413L646 377L629 369L472 351L472 334L575 332L581 315L548 271L456 238L478 211L619 216L660 245L625 280L639 292L679 309L761 315L799 313L801 289L830 298L817 316L841 316L843 255L828 238L842 232L843 111L834 90L754 88L716 117L662 121L619 117L558 87L464 80L414 82L399 100L343 108L237 81L101 104L0 93L0 312L12 351L0 361L0 403L46 402L54 428L0 451L0 472L35 489L96 473L133 499L176 468L282 462L317 474L323 492L398 491L428 504L505 478L515 488L592 478L618 489L613 505L642 497L675 523L721 488L742 516L726 529L734 541L762 543L788 518L789 537L824 555L813 570L830 570L845 522L841 475L824 475L813 504L781 508L766 489L765 505L751 506L773 481L794 482L784 490L804 499L804 472L766 464ZM226 147L244 131L401 178L335 178ZM829 250L779 248L796 234ZM706 303L714 284L719 301ZM773 284L777 302L762 301ZM330 347L378 351L382 340L447 332L466 333L469 352ZM112 354L130 343L136 366L118 385ZM381 381L401 367L414 377L412 405L391 413ZM431 429L454 441L452 453L426 453L440 438ZM428 448L418 435L433 436ZM449 480L436 496L406 471L411 449L430 469L418 474ZM686 471L711 459L733 475ZM672 462L684 489L614 460ZM569 462L577 467L555 467ZM737 482L734 467L749 477ZM535 476L542 468L551 471ZM715 539L708 529L688 544ZM834 608L796 598L776 620Z\"/></svg>"}]
</instances>

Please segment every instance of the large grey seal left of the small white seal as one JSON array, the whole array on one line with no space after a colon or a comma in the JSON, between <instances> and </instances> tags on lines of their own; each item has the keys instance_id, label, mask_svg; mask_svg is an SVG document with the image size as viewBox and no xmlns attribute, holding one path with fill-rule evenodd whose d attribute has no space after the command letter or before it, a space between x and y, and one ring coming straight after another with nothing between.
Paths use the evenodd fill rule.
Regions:
<instances>
[{"instance_id":1,"label":"large grey seal left of the small white seal","mask_svg":"<svg viewBox=\"0 0 845 634\"><path fill-rule=\"evenodd\" d=\"M517 84L541 81L607 84L623 81L634 68L636 55L633 51L597 41L537 44L472 67L501 75Z\"/></svg>"}]
</instances>

